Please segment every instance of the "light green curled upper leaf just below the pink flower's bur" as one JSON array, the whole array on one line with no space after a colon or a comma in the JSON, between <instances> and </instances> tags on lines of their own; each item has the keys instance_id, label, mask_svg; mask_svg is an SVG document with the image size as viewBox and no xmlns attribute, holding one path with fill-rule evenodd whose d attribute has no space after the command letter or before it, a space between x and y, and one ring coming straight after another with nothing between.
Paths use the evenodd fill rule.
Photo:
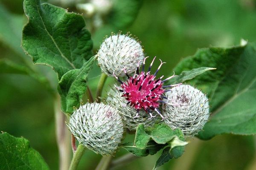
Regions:
<instances>
[{"instance_id":1,"label":"light green curled upper leaf just below the pink flower's bur","mask_svg":"<svg viewBox=\"0 0 256 170\"><path fill-rule=\"evenodd\" d=\"M166 144L167 142L172 143L171 141L173 139L180 140L179 136L183 136L181 130L172 130L171 127L165 124L158 124L146 130L144 129L144 125L140 124L136 130L134 145L140 149L144 149L151 139L157 144ZM180 143L183 143L183 141L180 141ZM185 144L186 142L182 146Z\"/></svg>"}]
</instances>

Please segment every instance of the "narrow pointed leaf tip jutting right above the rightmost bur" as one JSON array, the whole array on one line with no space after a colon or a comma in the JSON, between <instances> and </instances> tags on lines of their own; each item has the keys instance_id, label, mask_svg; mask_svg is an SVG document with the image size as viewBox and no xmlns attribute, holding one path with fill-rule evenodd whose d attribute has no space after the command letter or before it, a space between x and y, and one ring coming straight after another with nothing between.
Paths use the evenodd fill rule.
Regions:
<instances>
[{"instance_id":1,"label":"narrow pointed leaf tip jutting right above the rightmost bur","mask_svg":"<svg viewBox=\"0 0 256 170\"><path fill-rule=\"evenodd\" d=\"M178 77L173 77L168 81L168 84L177 84L185 82L186 80L193 79L194 77L203 74L205 71L215 70L216 68L209 68L209 67L200 67L200 68L193 68L189 71L182 71Z\"/></svg>"}]
</instances>

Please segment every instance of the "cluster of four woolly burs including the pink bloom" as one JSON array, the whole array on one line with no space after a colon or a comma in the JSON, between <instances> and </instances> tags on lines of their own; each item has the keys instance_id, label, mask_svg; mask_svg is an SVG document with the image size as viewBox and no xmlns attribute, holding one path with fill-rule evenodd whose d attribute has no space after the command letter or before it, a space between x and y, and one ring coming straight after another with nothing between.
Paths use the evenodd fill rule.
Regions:
<instances>
[{"instance_id":1,"label":"cluster of four woolly burs including the pink bloom","mask_svg":"<svg viewBox=\"0 0 256 170\"><path fill-rule=\"evenodd\" d=\"M111 34L97 54L102 72L113 76L120 83L111 88L102 103L87 103L70 116L67 124L76 139L96 153L110 155L121 142L123 127L136 130L160 122L159 115L172 129L179 128L185 136L194 136L209 118L209 103L203 94L190 85L164 83L176 77L163 79L151 72L154 59L145 69L143 48L129 34ZM141 67L141 70L140 70ZM125 79L124 76L127 78ZM163 123L161 122L161 123Z\"/></svg>"}]
</instances>

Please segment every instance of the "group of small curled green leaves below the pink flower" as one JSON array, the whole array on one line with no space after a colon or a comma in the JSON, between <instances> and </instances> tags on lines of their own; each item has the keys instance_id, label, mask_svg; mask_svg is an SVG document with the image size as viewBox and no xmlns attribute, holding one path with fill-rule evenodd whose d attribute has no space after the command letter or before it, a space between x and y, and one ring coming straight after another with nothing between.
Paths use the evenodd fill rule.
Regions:
<instances>
[{"instance_id":1,"label":"group of small curled green leaves below the pink flower","mask_svg":"<svg viewBox=\"0 0 256 170\"><path fill-rule=\"evenodd\" d=\"M184 145L187 144L184 141L185 137L179 129L172 130L165 124L158 124L144 129L144 125L140 124L136 130L134 144L126 143L122 147L135 156L148 156L154 155L157 151L167 146L157 160L154 166L155 169L172 158L177 159L180 157L184 153Z\"/></svg>"}]
</instances>

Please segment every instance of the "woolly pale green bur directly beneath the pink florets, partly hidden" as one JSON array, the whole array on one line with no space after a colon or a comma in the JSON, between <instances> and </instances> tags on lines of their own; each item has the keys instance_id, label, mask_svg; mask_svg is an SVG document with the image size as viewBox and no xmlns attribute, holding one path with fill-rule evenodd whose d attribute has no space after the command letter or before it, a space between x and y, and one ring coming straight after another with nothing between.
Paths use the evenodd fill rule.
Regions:
<instances>
[{"instance_id":1,"label":"woolly pale green bur directly beneath the pink florets, partly hidden","mask_svg":"<svg viewBox=\"0 0 256 170\"><path fill-rule=\"evenodd\" d=\"M145 127L150 127L157 122L158 119L154 119L153 121L148 120L150 116L146 114L145 111L141 111L141 116L138 116L134 119L136 110L130 105L126 106L127 100L121 96L122 92L118 91L116 88L111 88L105 101L108 105L111 105L112 107L120 111L120 116L122 117L124 126L130 131L136 130L137 126L141 123L143 123Z\"/></svg>"}]
</instances>

